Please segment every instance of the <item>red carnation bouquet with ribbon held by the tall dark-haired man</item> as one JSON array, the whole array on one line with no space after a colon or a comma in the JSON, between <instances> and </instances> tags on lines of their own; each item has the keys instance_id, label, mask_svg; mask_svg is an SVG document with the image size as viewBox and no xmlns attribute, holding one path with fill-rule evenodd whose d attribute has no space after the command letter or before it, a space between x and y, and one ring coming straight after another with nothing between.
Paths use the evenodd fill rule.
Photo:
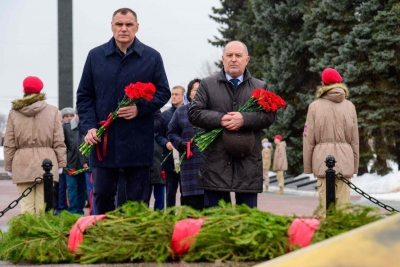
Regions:
<instances>
[{"instance_id":1,"label":"red carnation bouquet with ribbon held by the tall dark-haired man","mask_svg":"<svg viewBox=\"0 0 400 267\"><path fill-rule=\"evenodd\" d=\"M153 95L156 92L156 87L152 83L131 83L128 86L125 87L125 95L124 98L118 102L118 107L115 111L111 112L108 115L107 120L101 121L98 124L101 125L101 127L96 131L97 137L101 138L104 134L104 140L103 140L103 156L105 157L107 155L107 132L108 132L108 127L110 124L118 118L118 110L123 107L127 107L133 104L136 104L140 100L146 100L150 101L153 99ZM89 156L90 152L92 151L94 145L87 144L83 142L79 146L79 151L82 153L84 156ZM102 161L100 151L99 151L99 146L97 148L97 158L99 161Z\"/></svg>"}]
</instances>

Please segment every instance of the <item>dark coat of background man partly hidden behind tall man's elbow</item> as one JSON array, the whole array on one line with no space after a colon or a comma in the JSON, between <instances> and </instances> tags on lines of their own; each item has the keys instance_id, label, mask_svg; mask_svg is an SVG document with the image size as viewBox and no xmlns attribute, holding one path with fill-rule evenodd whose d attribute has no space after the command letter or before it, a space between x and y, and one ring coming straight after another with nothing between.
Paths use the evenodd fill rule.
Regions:
<instances>
[{"instance_id":1,"label":"dark coat of background man partly hidden behind tall man's elbow","mask_svg":"<svg viewBox=\"0 0 400 267\"><path fill-rule=\"evenodd\" d=\"M162 160L165 159L165 157L169 154L168 148L165 146L169 140L167 138L167 131L168 131L168 124L171 121L172 115L174 115L174 112L176 110L175 106L170 107L169 109L165 110L162 114L163 118L163 127L162 129L156 134L156 142L159 146L162 147L163 149L163 154L162 154ZM164 161L162 164L162 169L164 171L173 171L175 169L175 164L174 164L174 157L171 153L171 155L168 156L168 158Z\"/></svg>"}]
</instances>

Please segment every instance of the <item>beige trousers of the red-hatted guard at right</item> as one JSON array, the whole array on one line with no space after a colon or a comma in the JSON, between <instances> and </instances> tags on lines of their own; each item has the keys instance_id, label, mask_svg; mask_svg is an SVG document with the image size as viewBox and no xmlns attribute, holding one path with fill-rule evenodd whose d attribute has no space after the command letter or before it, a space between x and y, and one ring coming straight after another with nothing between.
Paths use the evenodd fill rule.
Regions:
<instances>
[{"instance_id":1,"label":"beige trousers of the red-hatted guard at right","mask_svg":"<svg viewBox=\"0 0 400 267\"><path fill-rule=\"evenodd\" d=\"M351 181L351 177L346 177L347 180ZM350 187L340 181L335 179L335 203L337 208L341 208L350 203ZM319 209L317 211L318 215L325 216L326 214L326 179L317 178L317 188L319 196Z\"/></svg>"}]
</instances>

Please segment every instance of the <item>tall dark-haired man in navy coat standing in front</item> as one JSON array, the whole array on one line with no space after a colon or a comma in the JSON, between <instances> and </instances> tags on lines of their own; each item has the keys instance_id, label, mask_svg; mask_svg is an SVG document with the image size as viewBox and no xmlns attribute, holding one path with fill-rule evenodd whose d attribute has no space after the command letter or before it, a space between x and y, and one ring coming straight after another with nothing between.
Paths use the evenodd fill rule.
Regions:
<instances>
[{"instance_id":1,"label":"tall dark-haired man in navy coat standing in front","mask_svg":"<svg viewBox=\"0 0 400 267\"><path fill-rule=\"evenodd\" d=\"M110 41L89 52L77 92L80 130L85 142L105 142L96 136L98 123L116 110L127 85L151 82L156 93L151 101L120 108L119 118L108 127L106 151L100 149L102 160L95 149L90 155L99 214L114 209L120 168L126 179L127 199L147 201L154 151L153 114L171 96L161 55L135 37L139 29L136 13L129 8L118 9L113 14L111 29Z\"/></svg>"}]
</instances>

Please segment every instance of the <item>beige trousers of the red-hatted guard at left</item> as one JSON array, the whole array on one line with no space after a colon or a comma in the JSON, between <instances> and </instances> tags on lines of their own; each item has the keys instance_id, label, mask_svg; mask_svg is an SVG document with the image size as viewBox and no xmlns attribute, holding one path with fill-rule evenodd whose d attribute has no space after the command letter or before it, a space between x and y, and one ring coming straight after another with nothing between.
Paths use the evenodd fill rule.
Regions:
<instances>
[{"instance_id":1,"label":"beige trousers of the red-hatted guard at left","mask_svg":"<svg viewBox=\"0 0 400 267\"><path fill-rule=\"evenodd\" d=\"M22 194L25 189L30 187L33 182L17 184L18 194ZM21 213L41 213L44 212L44 189L43 183L37 184L26 197L21 198Z\"/></svg>"}]
</instances>

